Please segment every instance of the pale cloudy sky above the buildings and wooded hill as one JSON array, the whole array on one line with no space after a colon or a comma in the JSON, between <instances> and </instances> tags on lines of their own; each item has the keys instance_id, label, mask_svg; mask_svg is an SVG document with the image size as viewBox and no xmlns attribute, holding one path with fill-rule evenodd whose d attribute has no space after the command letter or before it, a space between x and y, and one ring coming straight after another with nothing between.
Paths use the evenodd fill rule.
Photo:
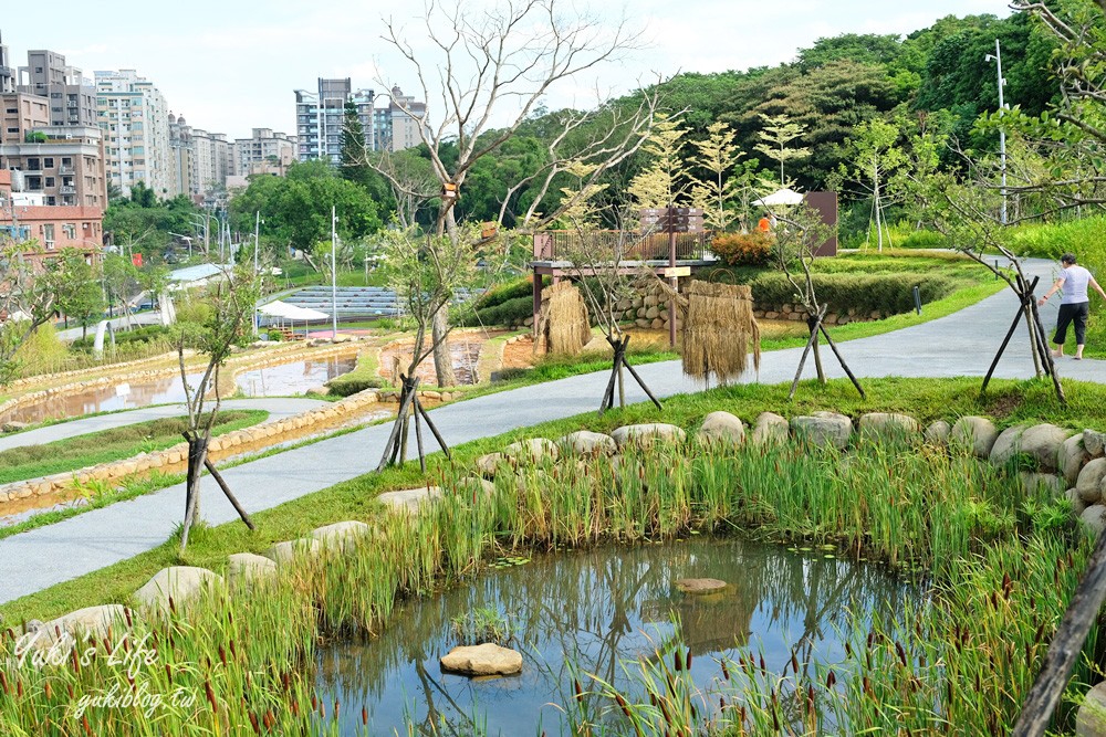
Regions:
<instances>
[{"instance_id":1,"label":"pale cloudy sky above the buildings and wooded hill","mask_svg":"<svg viewBox=\"0 0 1106 737\"><path fill-rule=\"evenodd\" d=\"M452 0L445 0L448 4ZM517 0L517 2L520 0ZM546 107L594 107L677 72L723 72L776 65L800 48L839 33L908 34L949 14L1008 15L1006 0L634 0L625 4L556 0L566 15L587 18L598 33L619 19L644 44L616 63L550 90ZM478 12L491 0L466 0ZM421 2L380 0L191 0L135 3L54 0L6 3L0 34L12 66L27 50L49 49L93 76L134 69L154 82L168 107L188 124L230 138L250 129L294 134L293 91L316 78L352 77L354 88L410 94L420 88L411 66L383 39L385 21L429 57ZM441 11L434 11L440 19ZM427 54L427 56L422 56ZM981 62L982 63L982 62ZM431 116L435 95L429 98ZM421 95L420 95L421 96ZM511 101L499 113L510 117ZM440 105L440 103L439 103Z\"/></svg>"}]
</instances>

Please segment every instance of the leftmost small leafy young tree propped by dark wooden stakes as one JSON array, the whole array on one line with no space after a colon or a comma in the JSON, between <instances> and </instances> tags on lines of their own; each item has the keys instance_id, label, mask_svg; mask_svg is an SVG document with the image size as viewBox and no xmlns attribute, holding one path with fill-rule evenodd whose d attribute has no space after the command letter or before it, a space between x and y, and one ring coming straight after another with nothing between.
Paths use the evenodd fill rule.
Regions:
<instances>
[{"instance_id":1,"label":"leftmost small leafy young tree propped by dark wooden stakes","mask_svg":"<svg viewBox=\"0 0 1106 737\"><path fill-rule=\"evenodd\" d=\"M185 493L185 522L180 535L181 552L188 547L189 530L199 518L200 475L205 468L219 484L242 517L242 522L253 529L249 515L208 459L208 445L222 407L220 369L230 357L233 347L249 335L253 310L261 294L261 280L253 273L252 264L249 267L240 266L234 272L228 271L223 280L210 287L206 298L210 312L201 324L178 323L177 359L188 409L188 430L184 433L185 440L188 441L188 478ZM198 348L208 358L207 366L195 385L189 382L185 367L185 348L189 346ZM211 394L213 404L210 404ZM206 408L208 409L205 412Z\"/></svg>"}]
</instances>

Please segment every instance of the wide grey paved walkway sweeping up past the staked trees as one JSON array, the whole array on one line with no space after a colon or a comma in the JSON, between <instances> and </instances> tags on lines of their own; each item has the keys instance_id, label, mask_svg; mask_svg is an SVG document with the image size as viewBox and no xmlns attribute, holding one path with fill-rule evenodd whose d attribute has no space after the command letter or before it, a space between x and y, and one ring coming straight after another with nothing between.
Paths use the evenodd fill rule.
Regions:
<instances>
[{"instance_id":1,"label":"wide grey paved walkway sweeping up past the staked trees","mask_svg":"<svg viewBox=\"0 0 1106 737\"><path fill-rule=\"evenodd\" d=\"M1056 266L1034 261L1029 270L1052 280ZM1056 306L1043 310L1046 327L1055 320ZM982 376L1018 307L1009 289L956 315L872 338L843 344L853 370L863 377ZM763 383L790 381L802 349L765 354L759 377ZM824 361L831 377L843 372L832 358ZM651 364L639 369L659 397L695 392L701 385L684 376L678 361ZM1106 361L1064 359L1064 377L1106 382ZM813 368L807 369L807 378ZM1024 327L1011 343L995 371L999 378L1033 376ZM547 420L594 412L606 385L605 372L576 376L524 387L432 410L435 423L453 445L497 435ZM627 387L627 401L645 400ZM260 459L223 473L244 507L268 509L372 471L384 452L389 425L358 432ZM236 518L225 497L205 480L205 518L221 524ZM88 512L72 519L0 540L0 602L33 593L90 571L131 558L161 545L184 512L184 485L131 502ZM96 603L96 602L88 602Z\"/></svg>"}]
</instances>

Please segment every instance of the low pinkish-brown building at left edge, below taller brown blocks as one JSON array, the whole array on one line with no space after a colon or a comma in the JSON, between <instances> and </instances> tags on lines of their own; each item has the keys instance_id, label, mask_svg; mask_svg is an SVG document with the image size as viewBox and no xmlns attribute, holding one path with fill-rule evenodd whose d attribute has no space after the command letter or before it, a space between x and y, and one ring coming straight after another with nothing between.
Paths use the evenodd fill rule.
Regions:
<instances>
[{"instance_id":1,"label":"low pinkish-brown building at left edge, below taller brown blocks","mask_svg":"<svg viewBox=\"0 0 1106 737\"><path fill-rule=\"evenodd\" d=\"M34 241L32 261L43 261L75 249L88 263L103 255L104 211L83 206L46 206L42 194L20 192L20 172L0 169L0 238Z\"/></svg>"}]
</instances>

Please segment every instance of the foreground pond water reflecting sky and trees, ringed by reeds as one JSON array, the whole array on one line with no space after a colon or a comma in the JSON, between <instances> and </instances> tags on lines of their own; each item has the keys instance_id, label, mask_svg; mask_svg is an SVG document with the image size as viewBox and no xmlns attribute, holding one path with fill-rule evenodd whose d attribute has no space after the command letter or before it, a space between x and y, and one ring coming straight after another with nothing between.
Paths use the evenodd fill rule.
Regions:
<instances>
[{"instance_id":1,"label":"foreground pond water reflecting sky and trees, ringed by reeds","mask_svg":"<svg viewBox=\"0 0 1106 737\"><path fill-rule=\"evenodd\" d=\"M690 596L676 589L681 578L729 586ZM762 654L774 673L793 649L803 662L841 660L837 632L851 610L864 619L915 607L922 596L877 566L745 540L549 556L400 604L378 636L322 650L316 687L324 703L340 703L342 735L365 734L363 708L374 735L406 735L408 723L415 734L555 735L564 727L555 705L572 697L571 665L627 688L620 663L653 657L674 636L675 622L695 656L692 677L709 688L721 677L720 657ZM510 621L522 674L442 673L438 659L458 644L452 621L484 610Z\"/></svg>"}]
</instances>

